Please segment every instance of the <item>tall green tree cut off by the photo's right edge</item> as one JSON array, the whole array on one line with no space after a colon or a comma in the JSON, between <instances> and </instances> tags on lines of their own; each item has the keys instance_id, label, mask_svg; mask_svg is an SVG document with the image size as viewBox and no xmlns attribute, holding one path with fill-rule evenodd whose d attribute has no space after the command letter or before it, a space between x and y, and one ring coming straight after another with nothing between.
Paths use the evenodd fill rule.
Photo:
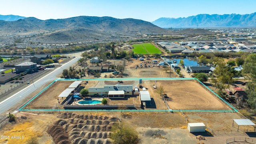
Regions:
<instances>
[{"instance_id":1,"label":"tall green tree cut off by the photo's right edge","mask_svg":"<svg viewBox=\"0 0 256 144\"><path fill-rule=\"evenodd\" d=\"M256 108L256 54L250 54L244 61L243 75L248 78L246 84L246 93L248 96L247 102L250 104L251 108Z\"/></svg>"}]
</instances>

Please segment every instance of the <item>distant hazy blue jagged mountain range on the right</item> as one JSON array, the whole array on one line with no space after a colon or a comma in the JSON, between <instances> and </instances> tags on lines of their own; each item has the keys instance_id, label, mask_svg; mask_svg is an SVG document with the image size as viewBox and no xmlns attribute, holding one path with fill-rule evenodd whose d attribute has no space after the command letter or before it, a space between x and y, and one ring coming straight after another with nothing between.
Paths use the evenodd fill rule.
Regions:
<instances>
[{"instance_id":1,"label":"distant hazy blue jagged mountain range on the right","mask_svg":"<svg viewBox=\"0 0 256 144\"><path fill-rule=\"evenodd\" d=\"M227 28L256 27L256 12L252 14L198 14L187 18L159 18L152 24L161 28Z\"/></svg>"}]
</instances>

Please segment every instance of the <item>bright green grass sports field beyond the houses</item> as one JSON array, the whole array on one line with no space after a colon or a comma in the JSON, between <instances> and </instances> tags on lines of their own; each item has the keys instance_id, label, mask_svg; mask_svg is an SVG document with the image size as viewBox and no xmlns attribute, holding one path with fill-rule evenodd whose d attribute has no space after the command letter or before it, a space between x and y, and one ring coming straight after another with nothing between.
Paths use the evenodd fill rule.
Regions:
<instances>
[{"instance_id":1,"label":"bright green grass sports field beyond the houses","mask_svg":"<svg viewBox=\"0 0 256 144\"><path fill-rule=\"evenodd\" d=\"M161 54L161 51L150 43L132 45L134 54Z\"/></svg>"}]
</instances>

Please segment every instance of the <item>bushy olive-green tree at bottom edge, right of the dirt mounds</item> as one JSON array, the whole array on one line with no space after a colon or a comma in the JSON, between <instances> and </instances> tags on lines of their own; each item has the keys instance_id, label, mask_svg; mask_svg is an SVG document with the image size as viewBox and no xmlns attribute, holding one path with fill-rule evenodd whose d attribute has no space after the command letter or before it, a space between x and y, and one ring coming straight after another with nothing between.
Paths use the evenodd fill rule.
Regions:
<instances>
[{"instance_id":1,"label":"bushy olive-green tree at bottom edge, right of the dirt mounds","mask_svg":"<svg viewBox=\"0 0 256 144\"><path fill-rule=\"evenodd\" d=\"M123 122L116 123L111 128L111 139L113 144L138 144L139 137L136 130L124 125Z\"/></svg>"}]
</instances>

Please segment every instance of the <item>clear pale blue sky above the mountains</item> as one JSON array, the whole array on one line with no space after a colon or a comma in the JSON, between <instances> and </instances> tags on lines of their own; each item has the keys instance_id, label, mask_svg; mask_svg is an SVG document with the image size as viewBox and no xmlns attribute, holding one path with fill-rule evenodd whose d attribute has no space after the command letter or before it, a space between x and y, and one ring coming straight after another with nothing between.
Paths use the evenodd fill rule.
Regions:
<instances>
[{"instance_id":1,"label":"clear pale blue sky above the mountains","mask_svg":"<svg viewBox=\"0 0 256 144\"><path fill-rule=\"evenodd\" d=\"M251 14L256 0L0 0L0 15L40 20L110 16L152 22L197 14Z\"/></svg>"}]
</instances>

